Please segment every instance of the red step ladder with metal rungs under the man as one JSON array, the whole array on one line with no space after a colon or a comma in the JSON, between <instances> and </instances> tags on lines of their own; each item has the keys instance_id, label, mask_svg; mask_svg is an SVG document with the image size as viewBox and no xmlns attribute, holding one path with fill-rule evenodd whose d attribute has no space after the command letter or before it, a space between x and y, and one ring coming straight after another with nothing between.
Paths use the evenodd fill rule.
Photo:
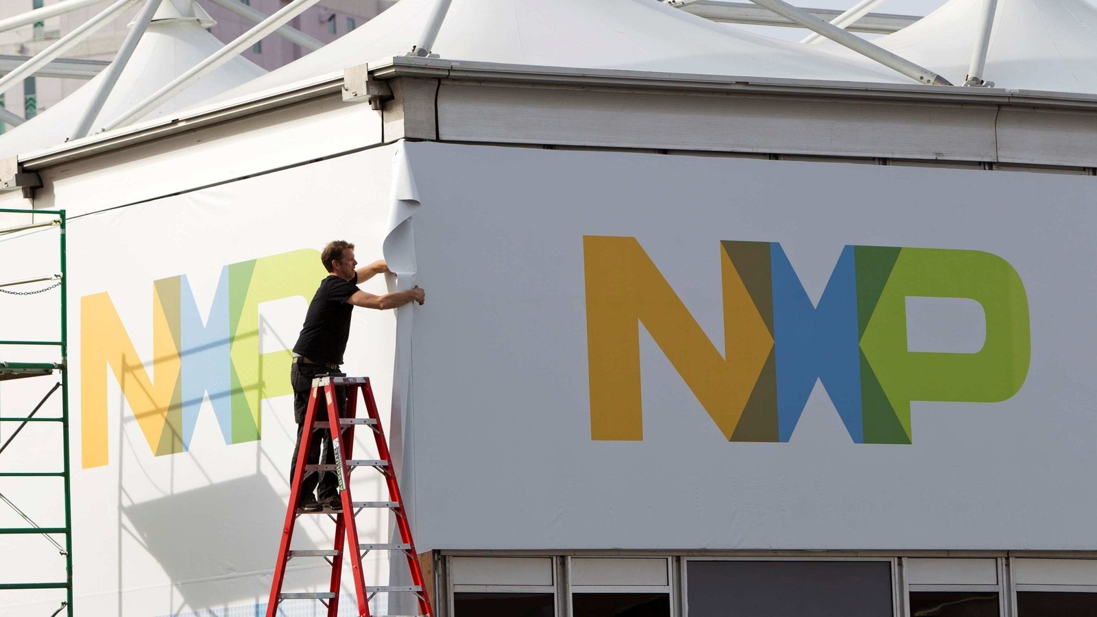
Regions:
<instances>
[{"instance_id":1,"label":"red step ladder with metal rungs under the man","mask_svg":"<svg viewBox=\"0 0 1097 617\"><path fill-rule=\"evenodd\" d=\"M339 407L336 400L335 388L337 385L347 388L347 416L339 417ZM365 408L369 417L358 417L358 395L362 393L365 401ZM316 407L317 400L323 396L327 402L328 422L317 422ZM378 460L365 460L351 458L354 448L354 427L358 425L369 426L373 430L373 438L377 442ZM335 453L335 464L305 464L308 457L308 445L315 435L313 431L320 428L339 426L340 430L331 433L332 452ZM360 467L370 467L380 471L385 476L388 484L387 502L355 502L350 492L350 471ZM342 500L342 512L335 512L325 507L316 512L306 512L297 507L301 497L301 482L307 472L333 471L338 478L340 497ZM396 526L400 531L400 541L397 543L359 543L358 527L354 525L354 515L365 508L388 508L396 515ZM350 513L350 516L347 514ZM332 550L294 550L290 548L293 539L293 527L301 515L320 514L331 518L336 524L335 548ZM415 542L411 540L411 527L408 525L407 513L404 509L404 501L400 498L400 489L396 482L396 472L393 470L393 459L388 453L388 444L385 441L385 431L381 426L381 417L377 415L377 404L373 400L373 389L370 386L370 378L364 377L320 377L313 380L313 391L308 396L308 408L305 412L305 429L301 435L301 448L298 449L297 461L294 464L292 489L290 491L290 505L285 512L285 525L282 528L282 543L278 549L278 563L274 565L274 580L271 582L270 601L267 604L267 617L275 617L279 604L283 599L319 599L328 607L328 617L337 617L339 614L339 579L342 574L343 541L352 550L350 556L351 576L354 577L354 592L358 596L358 615L370 617L370 599L378 593L412 593L419 601L419 614L432 617L430 602L427 598L426 585L423 584L422 570L419 568L419 560L415 550ZM362 557L371 550L402 551L407 557L408 569L411 572L411 585L408 586L365 586L362 579ZM331 585L327 592L304 592L304 593L282 593L282 583L285 580L285 568L290 559L295 557L323 557L331 564Z\"/></svg>"}]
</instances>

